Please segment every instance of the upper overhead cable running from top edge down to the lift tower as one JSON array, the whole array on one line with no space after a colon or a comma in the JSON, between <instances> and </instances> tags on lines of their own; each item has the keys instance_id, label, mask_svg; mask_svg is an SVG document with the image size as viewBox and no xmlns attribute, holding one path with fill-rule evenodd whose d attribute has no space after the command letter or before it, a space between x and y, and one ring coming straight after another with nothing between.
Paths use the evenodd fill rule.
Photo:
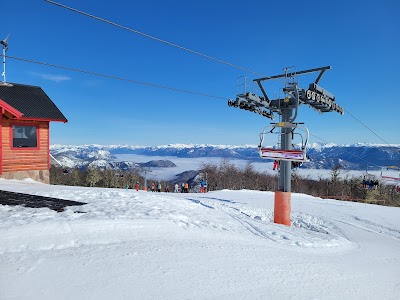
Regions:
<instances>
[{"instance_id":1,"label":"upper overhead cable running from top edge down to the lift tower","mask_svg":"<svg viewBox=\"0 0 400 300\"><path fill-rule=\"evenodd\" d=\"M219 62L219 63L225 64L225 65L228 65L228 66L237 68L237 69L241 69L241 70L246 71L246 72L250 72L250 73L253 73L253 74L257 74L257 75L262 75L262 76L264 76L263 74L261 74L261 73L259 73L259 72L256 72L256 71L253 71L253 70L250 70L250 69L247 69L247 68L244 68L244 67L235 65L235 64L233 64L233 63L227 62L227 61L225 61L225 60L218 59L218 58L212 57L212 56L210 56L210 55L203 54L203 53L201 53L201 52L198 52L198 51L195 51L195 50L192 50L192 49L189 49L189 48L186 48L186 47L183 47L183 46L180 46L180 45L171 43L171 42L168 42L168 41L166 41L166 40L163 40L163 39L157 38L157 37L155 37L155 36L152 36L152 35L149 35L149 34L140 32L140 31L138 31L138 30L135 30L135 29L132 29L132 28L129 28L129 27L120 25L120 24L118 24L118 23L115 23L115 22L112 22L112 21L109 21L109 20L106 20L106 19L97 17L97 16L95 16L95 15L91 15L91 14L89 14L89 13L80 11L80 10L75 9L75 8L73 8L73 7L69 7L69 6L66 6L66 5L63 5L63 4L61 4L61 3L58 3L58 2L55 2L55 1L51 1L51 0L44 0L44 1L46 1L46 2L48 2L48 3L51 3L51 4L54 4L54 5L57 5L57 6L59 6L59 7L62 7L62 8L71 10L71 11L73 11L73 12L77 12L77 13L79 13L79 14L81 14L81 15L84 15L84 16L87 16L87 17L90 17L90 18L99 20L99 21L101 21L101 22L104 22L104 23L107 23L107 24L110 24L110 25L113 25L113 26L122 28L122 29L124 29L124 30L128 30L128 31L130 31L130 32L133 32L133 33L139 34L139 35L141 35L141 36L147 37L147 38L149 38L149 39L155 40L155 41L157 41L157 42L167 44L167 45L169 45L169 46L172 46L172 47L175 47L175 48L178 48L178 49L181 49L181 50L184 50L184 51L187 51L187 52L190 52L190 53L193 53L193 54L202 56L202 57L205 57L205 58L207 58L207 59L211 59L211 60L217 61L217 62Z\"/></svg>"}]
</instances>

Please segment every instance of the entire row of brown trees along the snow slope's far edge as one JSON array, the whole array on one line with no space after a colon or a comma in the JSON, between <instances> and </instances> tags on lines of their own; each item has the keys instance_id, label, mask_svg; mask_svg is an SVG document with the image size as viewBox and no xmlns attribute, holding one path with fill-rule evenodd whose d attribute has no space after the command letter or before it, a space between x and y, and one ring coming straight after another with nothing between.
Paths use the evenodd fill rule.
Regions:
<instances>
[{"instance_id":1,"label":"entire row of brown trees along the snow slope's far edge","mask_svg":"<svg viewBox=\"0 0 400 300\"><path fill-rule=\"evenodd\" d=\"M376 189L363 188L361 179L350 176L341 176L341 167L336 166L331 170L330 178L318 178L300 176L295 170L292 172L292 192L304 193L315 197L335 198L357 202L369 202L390 206L400 206L400 195L394 191L392 185L378 185ZM191 190L197 191L196 185L200 185L202 179L207 179L208 190L259 190L275 191L278 188L278 172L274 175L258 172L251 163L244 168L238 168L228 159L219 164L205 164L202 166L200 176L196 176L191 182ZM152 182L148 179L148 182ZM57 185L75 185L106 188L134 188L139 182L143 189L144 178L138 171L120 171L99 168L88 170L71 169L68 173L59 167L50 168L50 183ZM162 186L172 182L162 182Z\"/></svg>"}]
</instances>

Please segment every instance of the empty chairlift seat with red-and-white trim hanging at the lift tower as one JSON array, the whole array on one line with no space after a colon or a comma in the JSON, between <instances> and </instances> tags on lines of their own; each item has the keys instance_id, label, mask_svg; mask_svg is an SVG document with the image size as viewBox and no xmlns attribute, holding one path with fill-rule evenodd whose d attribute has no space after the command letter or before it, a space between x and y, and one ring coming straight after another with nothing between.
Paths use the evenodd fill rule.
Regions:
<instances>
[{"instance_id":1,"label":"empty chairlift seat with red-and-white trim hanging at the lift tower","mask_svg":"<svg viewBox=\"0 0 400 300\"><path fill-rule=\"evenodd\" d=\"M263 146L265 135L267 134L282 135L281 132L274 132L276 128L278 129L291 128L292 130L286 134L292 134L293 138L294 136L300 137L301 141L300 149L282 150L282 149ZM301 133L295 132L296 129L303 130L305 136L303 136L303 134ZM277 124L266 126L260 133L260 144L258 146L258 153L260 157L264 159L287 160L292 162L307 162L310 161L309 157L307 156L308 139L309 139L309 131L305 126L301 126L298 123L280 122Z\"/></svg>"}]
</instances>

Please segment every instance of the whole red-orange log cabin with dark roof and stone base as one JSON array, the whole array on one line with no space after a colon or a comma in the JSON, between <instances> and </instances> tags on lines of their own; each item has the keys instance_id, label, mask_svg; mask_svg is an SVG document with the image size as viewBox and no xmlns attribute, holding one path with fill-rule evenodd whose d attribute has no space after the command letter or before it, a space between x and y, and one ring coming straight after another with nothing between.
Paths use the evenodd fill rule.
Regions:
<instances>
[{"instance_id":1,"label":"whole red-orange log cabin with dark roof and stone base","mask_svg":"<svg viewBox=\"0 0 400 300\"><path fill-rule=\"evenodd\" d=\"M0 178L50 182L50 122L68 122L38 86L0 83Z\"/></svg>"}]
</instances>

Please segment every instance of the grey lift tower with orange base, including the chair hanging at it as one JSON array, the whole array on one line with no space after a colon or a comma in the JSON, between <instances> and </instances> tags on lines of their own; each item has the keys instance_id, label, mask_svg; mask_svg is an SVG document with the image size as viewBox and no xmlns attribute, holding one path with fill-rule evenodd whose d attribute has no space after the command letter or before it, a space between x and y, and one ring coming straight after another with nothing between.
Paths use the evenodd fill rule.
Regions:
<instances>
[{"instance_id":1,"label":"grey lift tower with orange base, including the chair hanging at it","mask_svg":"<svg viewBox=\"0 0 400 300\"><path fill-rule=\"evenodd\" d=\"M330 70L330 66L320 67L315 69L292 72L290 68L285 68L285 73L280 75L268 76L254 79L262 92L262 96L251 92L238 94L236 100L229 100L228 105L235 108L245 109L258 113L264 117L274 119L274 115L281 116L281 122L271 123L272 129L267 131L264 128L260 134L259 153L262 158L280 161L280 172L278 178L278 189L275 191L274 203L274 222L278 224L291 225L290 210L291 210L291 171L292 163L307 162L307 142L308 130L302 123L296 123L299 106L302 104L308 105L320 113L336 111L340 114L344 113L344 109L336 104L335 96L318 85L326 70ZM317 78L311 83L308 89L299 87L297 77L299 75L319 72ZM285 87L283 92L285 98L270 99L267 95L263 83L272 80L284 78ZM304 127L303 130L307 136L301 145L300 150L293 149L292 140L294 134L298 134L297 130ZM262 146L264 136L268 133L273 133L274 130L280 130L280 149L265 148Z\"/></svg>"}]
</instances>

